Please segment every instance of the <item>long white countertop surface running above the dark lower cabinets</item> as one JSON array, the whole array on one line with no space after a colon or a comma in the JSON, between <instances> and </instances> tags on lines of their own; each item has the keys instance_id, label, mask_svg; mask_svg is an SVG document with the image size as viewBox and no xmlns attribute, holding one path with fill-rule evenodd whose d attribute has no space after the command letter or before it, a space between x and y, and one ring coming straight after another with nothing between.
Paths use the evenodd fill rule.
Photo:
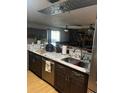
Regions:
<instances>
[{"instance_id":1,"label":"long white countertop surface running above the dark lower cabinets","mask_svg":"<svg viewBox=\"0 0 124 93\"><path fill-rule=\"evenodd\" d=\"M61 59L63 58L67 58L67 57L70 57L68 54L66 55L63 55L62 53L56 53L56 52L47 52L47 51L42 51L42 50L32 50L32 49L28 49L28 51L31 51L33 53L36 53L38 55L41 55L43 57L46 57L46 58L49 58L49 59L52 59L58 63L61 63L63 65L66 65L70 68L73 68L73 69L76 69L80 72L84 72L84 73L87 73L89 74L89 67L88 66L87 68L83 68L83 67L79 67L79 66L76 66L74 64L71 64L71 63L67 63ZM90 64L89 64L90 65Z\"/></svg>"}]
</instances>

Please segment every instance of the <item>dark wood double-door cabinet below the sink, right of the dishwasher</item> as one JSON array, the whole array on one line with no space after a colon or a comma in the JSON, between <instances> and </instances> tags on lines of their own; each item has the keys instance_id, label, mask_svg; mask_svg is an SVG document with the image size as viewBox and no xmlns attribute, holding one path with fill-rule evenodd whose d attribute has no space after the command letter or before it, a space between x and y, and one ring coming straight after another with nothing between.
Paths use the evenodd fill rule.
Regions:
<instances>
[{"instance_id":1,"label":"dark wood double-door cabinet below the sink, right of the dishwasher","mask_svg":"<svg viewBox=\"0 0 124 93\"><path fill-rule=\"evenodd\" d=\"M55 88L60 93L87 93L88 74L55 64Z\"/></svg>"}]
</instances>

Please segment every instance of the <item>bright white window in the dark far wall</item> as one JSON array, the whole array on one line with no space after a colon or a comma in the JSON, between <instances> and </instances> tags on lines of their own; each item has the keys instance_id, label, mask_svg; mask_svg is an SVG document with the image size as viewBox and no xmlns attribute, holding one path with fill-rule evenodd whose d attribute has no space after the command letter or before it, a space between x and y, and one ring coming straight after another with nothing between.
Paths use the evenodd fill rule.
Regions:
<instances>
[{"instance_id":1,"label":"bright white window in the dark far wall","mask_svg":"<svg viewBox=\"0 0 124 93\"><path fill-rule=\"evenodd\" d=\"M56 46L56 42L60 41L60 31L51 31L51 43Z\"/></svg>"}]
</instances>

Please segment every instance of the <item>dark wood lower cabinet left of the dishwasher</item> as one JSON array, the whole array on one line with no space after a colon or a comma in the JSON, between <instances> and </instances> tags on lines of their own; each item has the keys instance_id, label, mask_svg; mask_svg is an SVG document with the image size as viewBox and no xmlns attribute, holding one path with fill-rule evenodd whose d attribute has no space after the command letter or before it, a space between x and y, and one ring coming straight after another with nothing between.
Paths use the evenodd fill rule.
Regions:
<instances>
[{"instance_id":1,"label":"dark wood lower cabinet left of the dishwasher","mask_svg":"<svg viewBox=\"0 0 124 93\"><path fill-rule=\"evenodd\" d=\"M29 70L35 73L37 76L42 78L42 57L29 52Z\"/></svg>"}]
</instances>

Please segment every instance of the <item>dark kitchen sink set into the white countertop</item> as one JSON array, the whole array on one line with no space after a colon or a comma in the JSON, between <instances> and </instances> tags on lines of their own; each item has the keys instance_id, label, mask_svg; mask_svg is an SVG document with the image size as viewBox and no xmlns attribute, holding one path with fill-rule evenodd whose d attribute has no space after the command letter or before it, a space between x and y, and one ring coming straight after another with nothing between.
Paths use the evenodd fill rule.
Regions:
<instances>
[{"instance_id":1,"label":"dark kitchen sink set into the white countertop","mask_svg":"<svg viewBox=\"0 0 124 93\"><path fill-rule=\"evenodd\" d=\"M81 62L80 60L77 60L71 57L63 58L62 60L67 63L71 63L80 67L86 67L86 64L84 62Z\"/></svg>"}]
</instances>

